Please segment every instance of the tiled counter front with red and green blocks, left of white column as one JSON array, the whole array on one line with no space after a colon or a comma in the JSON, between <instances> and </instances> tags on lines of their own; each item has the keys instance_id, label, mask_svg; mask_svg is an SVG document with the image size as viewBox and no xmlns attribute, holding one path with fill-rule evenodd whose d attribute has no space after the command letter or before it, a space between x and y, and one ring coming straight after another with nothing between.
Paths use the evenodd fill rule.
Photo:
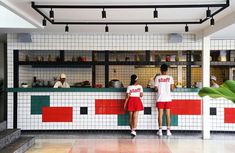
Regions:
<instances>
[{"instance_id":1,"label":"tiled counter front with red and green blocks, left of white column","mask_svg":"<svg viewBox=\"0 0 235 153\"><path fill-rule=\"evenodd\" d=\"M17 127L22 130L129 129L128 114L123 110L125 89L89 90L92 89L65 89L65 92L18 89ZM158 128L155 93L145 91L138 129L154 130ZM173 99L172 129L201 130L201 100L197 92L174 92Z\"/></svg>"}]
</instances>

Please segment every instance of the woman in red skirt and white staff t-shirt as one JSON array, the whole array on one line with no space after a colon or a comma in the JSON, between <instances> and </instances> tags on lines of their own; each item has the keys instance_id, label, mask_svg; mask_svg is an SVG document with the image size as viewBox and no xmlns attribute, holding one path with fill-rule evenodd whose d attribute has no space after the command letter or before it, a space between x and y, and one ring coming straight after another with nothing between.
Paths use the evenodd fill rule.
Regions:
<instances>
[{"instance_id":1,"label":"woman in red skirt and white staff t-shirt","mask_svg":"<svg viewBox=\"0 0 235 153\"><path fill-rule=\"evenodd\" d=\"M127 87L126 100L124 103L124 109L129 111L129 122L132 136L136 136L138 111L144 109L140 99L140 97L143 97L143 87L137 84L137 80L137 75L131 75L131 82Z\"/></svg>"}]
</instances>

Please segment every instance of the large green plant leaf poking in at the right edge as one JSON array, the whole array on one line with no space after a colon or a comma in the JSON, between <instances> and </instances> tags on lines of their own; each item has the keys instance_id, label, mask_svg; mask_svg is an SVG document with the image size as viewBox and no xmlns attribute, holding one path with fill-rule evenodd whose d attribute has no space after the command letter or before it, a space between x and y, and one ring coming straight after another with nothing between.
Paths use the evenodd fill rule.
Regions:
<instances>
[{"instance_id":1,"label":"large green plant leaf poking in at the right edge","mask_svg":"<svg viewBox=\"0 0 235 153\"><path fill-rule=\"evenodd\" d=\"M235 103L235 81L225 81L219 88L204 87L199 92L200 97L225 98Z\"/></svg>"}]
</instances>

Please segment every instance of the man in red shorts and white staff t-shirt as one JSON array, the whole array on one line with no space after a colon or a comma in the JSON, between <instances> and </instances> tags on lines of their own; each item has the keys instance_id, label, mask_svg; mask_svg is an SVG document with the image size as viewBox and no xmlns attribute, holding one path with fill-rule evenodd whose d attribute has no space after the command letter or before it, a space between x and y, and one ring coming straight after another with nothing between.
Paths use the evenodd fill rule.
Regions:
<instances>
[{"instance_id":1,"label":"man in red shorts and white staff t-shirt","mask_svg":"<svg viewBox=\"0 0 235 153\"><path fill-rule=\"evenodd\" d=\"M155 87L157 90L157 102L156 107L158 109L158 125L159 130L157 134L162 136L162 118L163 111L166 110L167 117L167 136L172 135L170 131L170 109L171 109L171 91L174 90L174 80L172 76L167 75L168 66L166 64L161 65L161 75L155 79Z\"/></svg>"}]
</instances>

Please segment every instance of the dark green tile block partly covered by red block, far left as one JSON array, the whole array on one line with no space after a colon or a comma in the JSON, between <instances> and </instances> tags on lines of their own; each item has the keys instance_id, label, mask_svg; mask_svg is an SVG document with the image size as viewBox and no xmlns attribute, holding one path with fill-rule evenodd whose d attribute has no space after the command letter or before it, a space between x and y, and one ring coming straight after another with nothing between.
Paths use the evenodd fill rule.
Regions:
<instances>
[{"instance_id":1,"label":"dark green tile block partly covered by red block, far left","mask_svg":"<svg viewBox=\"0 0 235 153\"><path fill-rule=\"evenodd\" d=\"M43 107L50 106L50 96L31 96L31 114L42 114Z\"/></svg>"}]
</instances>

